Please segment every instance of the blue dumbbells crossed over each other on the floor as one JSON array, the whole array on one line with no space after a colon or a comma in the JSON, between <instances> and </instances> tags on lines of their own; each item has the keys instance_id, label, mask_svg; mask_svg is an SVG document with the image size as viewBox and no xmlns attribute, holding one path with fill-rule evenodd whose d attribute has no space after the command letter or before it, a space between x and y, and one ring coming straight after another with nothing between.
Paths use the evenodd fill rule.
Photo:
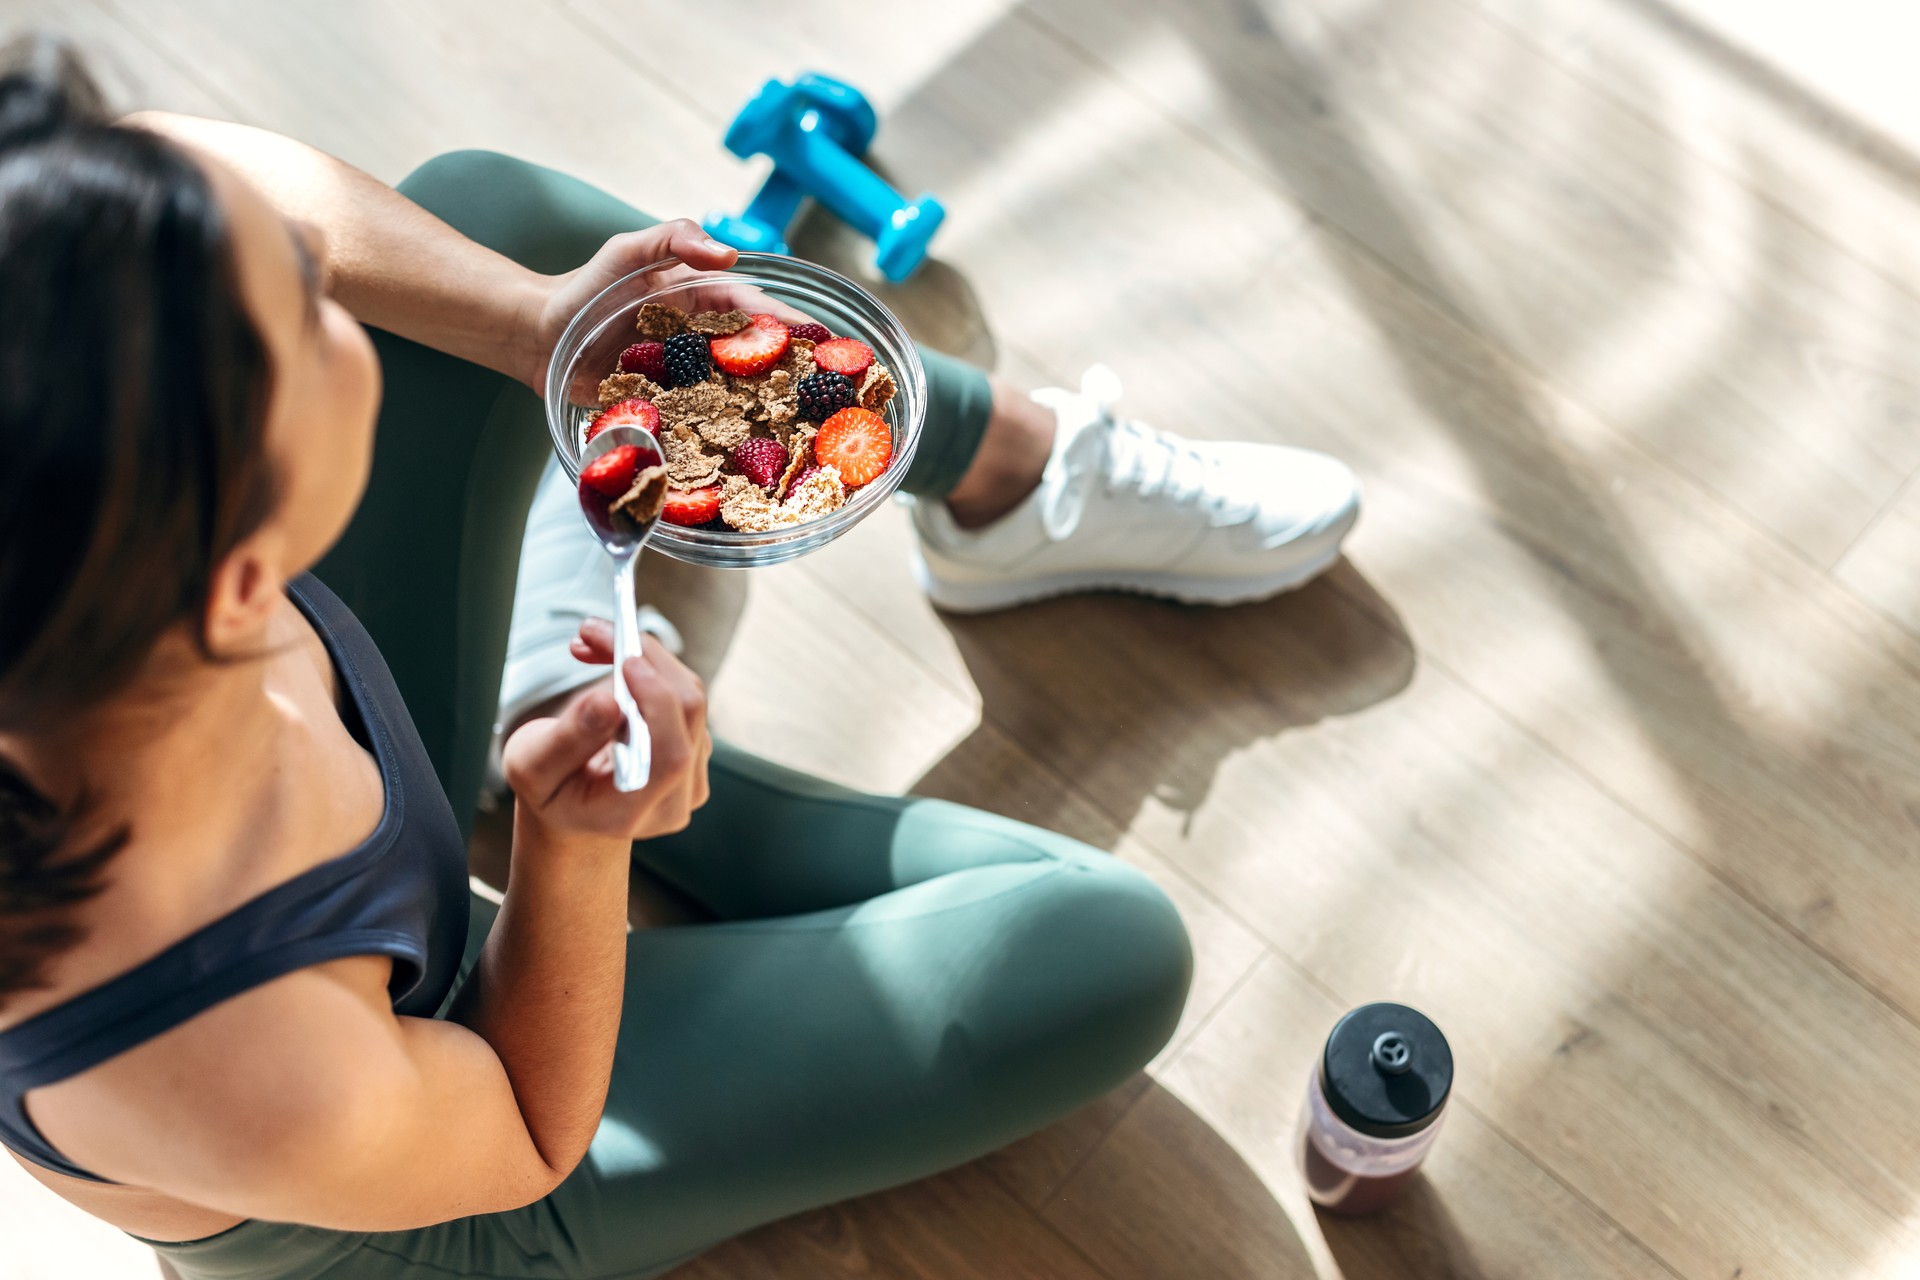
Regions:
<instances>
[{"instance_id":1,"label":"blue dumbbells crossed over each other on the floor","mask_svg":"<svg viewBox=\"0 0 1920 1280\"><path fill-rule=\"evenodd\" d=\"M874 238L879 274L904 280L927 255L927 240L947 209L933 196L908 203L860 159L879 119L852 84L803 75L768 81L726 130L726 150L741 159L768 155L774 173L739 217L707 215L703 226L735 249L789 253L787 225L812 196Z\"/></svg>"}]
</instances>

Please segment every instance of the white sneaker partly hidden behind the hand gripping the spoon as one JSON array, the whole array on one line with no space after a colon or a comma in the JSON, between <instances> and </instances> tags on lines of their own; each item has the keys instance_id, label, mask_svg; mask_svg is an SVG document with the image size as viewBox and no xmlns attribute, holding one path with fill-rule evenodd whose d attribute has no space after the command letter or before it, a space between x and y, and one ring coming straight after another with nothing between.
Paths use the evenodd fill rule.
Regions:
<instances>
[{"instance_id":1,"label":"white sneaker partly hidden behind the hand gripping the spoon","mask_svg":"<svg viewBox=\"0 0 1920 1280\"><path fill-rule=\"evenodd\" d=\"M526 512L520 539L520 572L513 587L513 626L507 631L507 668L499 677L499 712L488 758L488 789L507 785L499 773L499 748L507 729L545 702L572 693L607 674L588 666L568 645L588 618L612 618L612 560L580 518L580 495L559 459L547 459ZM680 652L680 631L653 604L639 606L639 629Z\"/></svg>"}]
</instances>

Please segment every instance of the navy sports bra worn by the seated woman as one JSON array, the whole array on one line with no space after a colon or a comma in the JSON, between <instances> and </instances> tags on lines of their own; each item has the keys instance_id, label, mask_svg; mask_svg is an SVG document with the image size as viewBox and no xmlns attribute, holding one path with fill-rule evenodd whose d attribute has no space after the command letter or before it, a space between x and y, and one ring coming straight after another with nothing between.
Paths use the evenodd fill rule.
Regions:
<instances>
[{"instance_id":1,"label":"navy sports bra worn by the seated woman","mask_svg":"<svg viewBox=\"0 0 1920 1280\"><path fill-rule=\"evenodd\" d=\"M98 1067L261 983L346 956L392 956L396 1013L432 1017L453 990L467 946L467 842L453 808L372 637L319 580L303 576L288 595L351 691L348 729L386 785L380 825L359 848L0 1032L0 1144L35 1165L106 1182L40 1136L27 1090Z\"/></svg>"}]
</instances>

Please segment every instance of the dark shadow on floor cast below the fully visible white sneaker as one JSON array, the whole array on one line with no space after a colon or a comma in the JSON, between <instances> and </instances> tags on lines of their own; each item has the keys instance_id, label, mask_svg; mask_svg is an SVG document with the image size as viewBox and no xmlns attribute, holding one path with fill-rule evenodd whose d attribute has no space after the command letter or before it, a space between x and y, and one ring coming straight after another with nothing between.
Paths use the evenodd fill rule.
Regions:
<instances>
[{"instance_id":1,"label":"dark shadow on floor cast below the fully visible white sneaker","mask_svg":"<svg viewBox=\"0 0 1920 1280\"><path fill-rule=\"evenodd\" d=\"M1190 818L1236 752L1392 699L1415 666L1392 604L1346 560L1231 608L1079 595L943 622L995 733L960 743L916 791L1054 827L1068 794L1048 808L1058 789L1004 768L983 775L975 756L1012 739L1112 821L1148 800Z\"/></svg>"}]
</instances>

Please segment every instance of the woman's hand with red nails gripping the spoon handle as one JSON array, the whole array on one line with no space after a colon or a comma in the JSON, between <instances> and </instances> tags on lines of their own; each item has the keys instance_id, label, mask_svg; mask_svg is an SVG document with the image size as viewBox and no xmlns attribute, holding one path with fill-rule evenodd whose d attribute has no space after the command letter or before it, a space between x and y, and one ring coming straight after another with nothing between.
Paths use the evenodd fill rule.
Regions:
<instances>
[{"instance_id":1,"label":"woman's hand with red nails gripping the spoon handle","mask_svg":"<svg viewBox=\"0 0 1920 1280\"><path fill-rule=\"evenodd\" d=\"M611 660L611 645L601 656L605 628L603 622L580 628L574 652ZM693 810L707 804L712 739L699 676L653 635L639 656L628 658L624 676L653 733L653 773L639 791L620 791L612 781L612 739L622 718L611 679L584 689L555 716L528 720L507 739L507 785L522 816L553 835L643 841L684 829Z\"/></svg>"}]
</instances>

